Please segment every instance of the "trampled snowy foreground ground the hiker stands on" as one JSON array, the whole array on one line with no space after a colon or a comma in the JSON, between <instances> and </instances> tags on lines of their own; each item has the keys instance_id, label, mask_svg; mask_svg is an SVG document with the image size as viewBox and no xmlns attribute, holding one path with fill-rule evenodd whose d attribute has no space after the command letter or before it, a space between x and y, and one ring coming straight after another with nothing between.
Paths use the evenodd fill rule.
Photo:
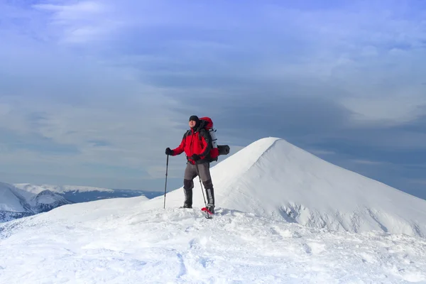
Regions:
<instances>
[{"instance_id":1,"label":"trampled snowy foreground ground the hiker stands on","mask_svg":"<svg viewBox=\"0 0 426 284\"><path fill-rule=\"evenodd\" d=\"M234 209L72 204L0 224L0 283L426 283L426 240Z\"/></svg>"}]
</instances>

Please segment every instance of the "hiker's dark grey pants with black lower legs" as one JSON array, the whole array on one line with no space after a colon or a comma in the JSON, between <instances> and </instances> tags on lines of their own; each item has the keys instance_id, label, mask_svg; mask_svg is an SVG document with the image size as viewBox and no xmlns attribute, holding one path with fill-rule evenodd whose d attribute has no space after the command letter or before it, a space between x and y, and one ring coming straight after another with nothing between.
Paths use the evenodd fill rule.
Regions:
<instances>
[{"instance_id":1,"label":"hiker's dark grey pants with black lower legs","mask_svg":"<svg viewBox=\"0 0 426 284\"><path fill-rule=\"evenodd\" d=\"M212 177L210 176L210 164L200 163L192 165L187 163L185 175L183 177L183 191L185 192L185 205L192 207L192 188L194 188L194 178L196 178L200 171L200 178L207 195L207 207L214 207L214 191Z\"/></svg>"}]
</instances>

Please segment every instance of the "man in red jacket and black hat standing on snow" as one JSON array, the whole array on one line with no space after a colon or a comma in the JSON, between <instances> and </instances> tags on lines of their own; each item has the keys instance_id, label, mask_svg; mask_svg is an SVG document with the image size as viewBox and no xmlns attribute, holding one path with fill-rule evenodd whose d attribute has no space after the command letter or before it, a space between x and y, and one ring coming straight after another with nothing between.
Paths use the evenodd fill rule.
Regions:
<instances>
[{"instance_id":1,"label":"man in red jacket and black hat standing on snow","mask_svg":"<svg viewBox=\"0 0 426 284\"><path fill-rule=\"evenodd\" d=\"M165 149L166 155L180 155L185 151L187 155L187 167L183 178L183 190L185 192L185 202L183 208L192 208L192 188L194 188L194 178L200 175L207 195L207 209L214 214L214 192L213 183L210 176L209 151L212 148L209 133L204 129L202 121L198 116L190 116L190 130L185 132L182 142L171 150Z\"/></svg>"}]
</instances>

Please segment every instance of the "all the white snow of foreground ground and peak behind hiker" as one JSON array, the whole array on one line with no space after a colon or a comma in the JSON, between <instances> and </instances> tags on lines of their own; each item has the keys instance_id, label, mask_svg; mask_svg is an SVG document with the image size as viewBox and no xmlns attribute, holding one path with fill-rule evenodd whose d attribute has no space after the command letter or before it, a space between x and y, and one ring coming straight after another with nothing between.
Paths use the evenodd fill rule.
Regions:
<instances>
[{"instance_id":1,"label":"all the white snow of foreground ground and peak behind hiker","mask_svg":"<svg viewBox=\"0 0 426 284\"><path fill-rule=\"evenodd\" d=\"M182 168L182 172L183 172ZM182 188L0 224L0 283L426 283L426 202L283 139L212 168L217 214Z\"/></svg>"}]
</instances>

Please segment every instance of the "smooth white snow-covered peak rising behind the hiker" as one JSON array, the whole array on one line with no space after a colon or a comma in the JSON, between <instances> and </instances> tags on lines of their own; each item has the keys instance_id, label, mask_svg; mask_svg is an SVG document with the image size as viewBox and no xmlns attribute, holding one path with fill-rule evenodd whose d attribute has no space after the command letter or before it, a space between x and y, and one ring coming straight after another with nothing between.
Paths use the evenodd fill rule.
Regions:
<instances>
[{"instance_id":1,"label":"smooth white snow-covered peak rising behind the hiker","mask_svg":"<svg viewBox=\"0 0 426 284\"><path fill-rule=\"evenodd\" d=\"M212 167L211 173L218 207L337 231L426 236L425 200L328 163L280 138L251 143ZM200 182L194 181L194 206L204 207ZM168 193L169 207L182 203L182 188ZM157 197L145 207L162 204L163 197Z\"/></svg>"}]
</instances>

